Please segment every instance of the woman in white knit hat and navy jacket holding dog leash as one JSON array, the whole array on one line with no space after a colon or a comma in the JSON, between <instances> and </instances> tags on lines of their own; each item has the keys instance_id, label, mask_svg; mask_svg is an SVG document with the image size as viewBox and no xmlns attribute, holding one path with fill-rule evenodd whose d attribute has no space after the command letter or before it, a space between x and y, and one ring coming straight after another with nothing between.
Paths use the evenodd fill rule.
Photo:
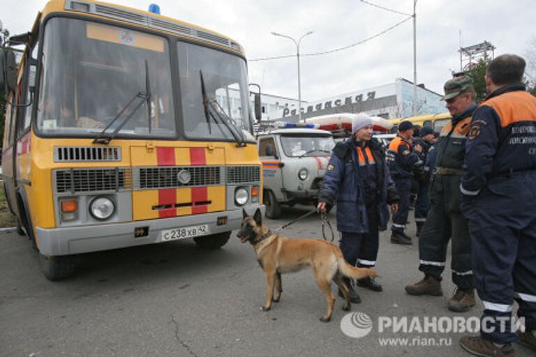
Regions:
<instances>
[{"instance_id":1,"label":"woman in white knit hat and navy jacket holding dog leash","mask_svg":"<svg viewBox=\"0 0 536 357\"><path fill-rule=\"evenodd\" d=\"M372 128L370 116L355 116L352 136L333 149L318 197L320 212L329 211L337 203L339 246L352 266L375 266L379 231L387 229L389 221L387 204L393 213L398 209L399 196L387 169L385 152L380 142L372 139ZM352 303L359 303L361 299L350 279L345 283ZM373 278L357 280L357 285L382 291ZM342 296L342 291L338 294Z\"/></svg>"}]
</instances>

